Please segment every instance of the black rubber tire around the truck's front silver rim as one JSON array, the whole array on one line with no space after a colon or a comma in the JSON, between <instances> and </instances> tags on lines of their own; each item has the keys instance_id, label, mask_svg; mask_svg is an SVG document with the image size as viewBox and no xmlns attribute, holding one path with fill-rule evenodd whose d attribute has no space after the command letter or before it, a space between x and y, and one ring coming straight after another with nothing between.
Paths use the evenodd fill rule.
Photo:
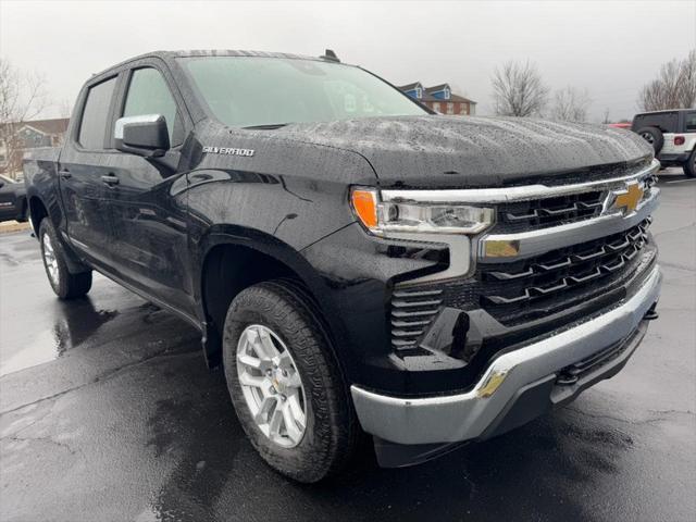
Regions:
<instances>
[{"instance_id":1,"label":"black rubber tire around the truck's front silver rim","mask_svg":"<svg viewBox=\"0 0 696 522\"><path fill-rule=\"evenodd\" d=\"M306 428L301 440L285 448L257 425L237 372L237 343L245 328L273 331L290 352L304 387ZM252 446L276 471L303 483L341 471L359 442L360 428L338 363L313 308L296 284L278 279L243 290L229 306L223 334L223 363L237 418Z\"/></svg>"}]
</instances>

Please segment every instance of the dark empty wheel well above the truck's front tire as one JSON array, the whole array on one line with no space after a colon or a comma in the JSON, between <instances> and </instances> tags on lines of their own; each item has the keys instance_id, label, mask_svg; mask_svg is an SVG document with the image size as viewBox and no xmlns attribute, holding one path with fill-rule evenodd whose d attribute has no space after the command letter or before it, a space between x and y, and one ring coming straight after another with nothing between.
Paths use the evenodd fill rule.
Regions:
<instances>
[{"instance_id":1,"label":"dark empty wheel well above the truck's front tire","mask_svg":"<svg viewBox=\"0 0 696 522\"><path fill-rule=\"evenodd\" d=\"M262 281L301 278L285 263L240 245L217 245L203 262L201 293L209 332L206 353L209 365L220 362L222 328L232 300L245 288Z\"/></svg>"}]
</instances>

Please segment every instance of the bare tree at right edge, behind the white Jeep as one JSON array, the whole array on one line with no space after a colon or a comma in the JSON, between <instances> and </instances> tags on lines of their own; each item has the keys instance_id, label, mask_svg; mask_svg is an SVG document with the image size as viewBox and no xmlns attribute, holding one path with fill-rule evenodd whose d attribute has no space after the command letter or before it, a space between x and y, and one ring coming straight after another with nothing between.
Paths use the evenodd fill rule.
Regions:
<instances>
[{"instance_id":1,"label":"bare tree at right edge, behind the white Jeep","mask_svg":"<svg viewBox=\"0 0 696 522\"><path fill-rule=\"evenodd\" d=\"M658 77L638 94L643 111L688 109L696 105L696 49L684 60L662 64Z\"/></svg>"}]
</instances>

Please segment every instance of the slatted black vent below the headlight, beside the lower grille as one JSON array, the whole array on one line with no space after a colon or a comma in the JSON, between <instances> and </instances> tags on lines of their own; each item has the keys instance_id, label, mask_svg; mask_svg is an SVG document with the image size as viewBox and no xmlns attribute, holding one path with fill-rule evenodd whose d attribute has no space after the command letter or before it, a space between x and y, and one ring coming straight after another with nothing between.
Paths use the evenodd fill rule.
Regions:
<instances>
[{"instance_id":1,"label":"slatted black vent below the headlight, beside the lower grille","mask_svg":"<svg viewBox=\"0 0 696 522\"><path fill-rule=\"evenodd\" d=\"M395 290L391 295L391 346L414 348L442 304L440 289Z\"/></svg>"}]
</instances>

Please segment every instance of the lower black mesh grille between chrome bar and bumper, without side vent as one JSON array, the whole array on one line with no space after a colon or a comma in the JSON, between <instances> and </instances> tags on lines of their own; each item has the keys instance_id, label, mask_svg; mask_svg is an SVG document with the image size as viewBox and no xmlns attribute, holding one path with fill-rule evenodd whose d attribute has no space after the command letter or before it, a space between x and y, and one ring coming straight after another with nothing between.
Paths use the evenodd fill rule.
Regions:
<instances>
[{"instance_id":1,"label":"lower black mesh grille between chrome bar and bumper, without side vent","mask_svg":"<svg viewBox=\"0 0 696 522\"><path fill-rule=\"evenodd\" d=\"M651 219L625 232L523 261L482 264L481 306L504 324L554 313L608 289L638 266Z\"/></svg>"}]
</instances>

